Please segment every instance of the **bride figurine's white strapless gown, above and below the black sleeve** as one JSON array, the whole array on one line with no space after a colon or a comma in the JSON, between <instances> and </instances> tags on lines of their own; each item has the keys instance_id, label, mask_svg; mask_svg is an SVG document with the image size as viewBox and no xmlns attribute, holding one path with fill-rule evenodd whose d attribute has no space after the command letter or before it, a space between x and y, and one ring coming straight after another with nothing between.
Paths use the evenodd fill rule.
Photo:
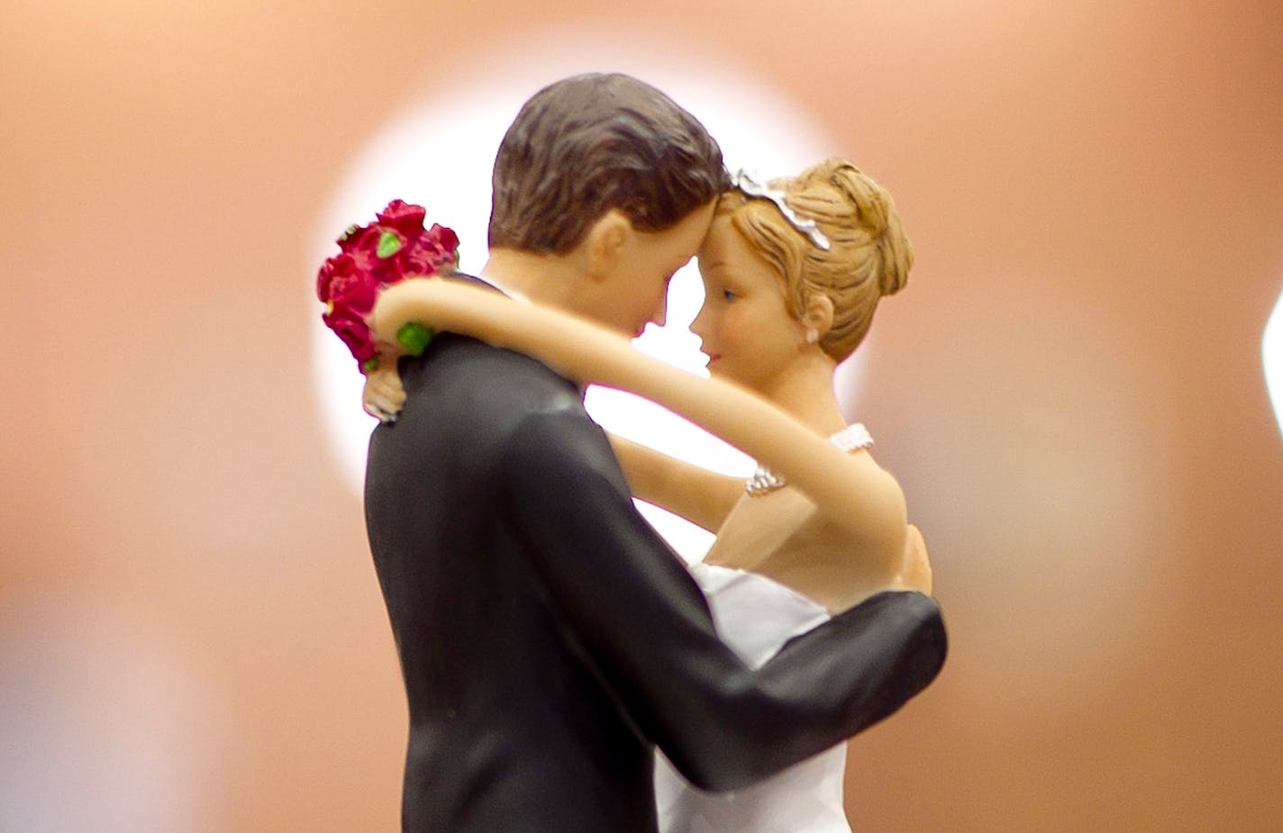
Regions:
<instances>
[{"instance_id":1,"label":"bride figurine's white strapless gown, above and below the black sleeve","mask_svg":"<svg viewBox=\"0 0 1283 833\"><path fill-rule=\"evenodd\" d=\"M708 597L717 633L752 668L829 619L824 607L765 575L699 563L690 570ZM656 757L663 833L851 833L842 809L845 745L724 793L692 787L662 754Z\"/></svg>"}]
</instances>

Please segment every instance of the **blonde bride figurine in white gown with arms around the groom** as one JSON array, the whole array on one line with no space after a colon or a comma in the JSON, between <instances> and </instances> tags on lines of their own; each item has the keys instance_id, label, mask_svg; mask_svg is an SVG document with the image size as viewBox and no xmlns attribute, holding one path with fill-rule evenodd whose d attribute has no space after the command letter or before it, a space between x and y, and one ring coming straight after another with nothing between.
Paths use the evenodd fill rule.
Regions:
<instances>
[{"instance_id":1,"label":"blonde bride figurine in white gown with arms around the groom","mask_svg":"<svg viewBox=\"0 0 1283 833\"><path fill-rule=\"evenodd\" d=\"M912 249L890 195L849 161L829 159L766 185L736 177L698 260L704 304L692 329L708 379L565 313L444 278L385 288L373 332L391 351L414 322L511 347L581 384L636 392L753 455L760 465L745 482L612 438L636 497L716 532L690 569L720 636L757 666L879 591L930 593L903 493L834 393L838 364L865 338L881 296L905 285ZM393 415L403 395L395 363L382 367L367 378L366 405ZM659 755L661 829L848 833L844 765L839 745L753 787L709 793Z\"/></svg>"}]
</instances>

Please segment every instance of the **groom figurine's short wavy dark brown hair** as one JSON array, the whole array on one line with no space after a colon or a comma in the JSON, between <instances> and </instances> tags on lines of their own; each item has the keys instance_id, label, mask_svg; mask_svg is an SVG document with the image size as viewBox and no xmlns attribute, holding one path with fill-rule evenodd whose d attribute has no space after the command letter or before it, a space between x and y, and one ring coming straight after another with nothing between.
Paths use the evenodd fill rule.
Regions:
<instances>
[{"instance_id":1,"label":"groom figurine's short wavy dark brown hair","mask_svg":"<svg viewBox=\"0 0 1283 833\"><path fill-rule=\"evenodd\" d=\"M517 113L494 161L491 249L566 254L611 209L663 231L730 187L704 126L636 78L558 81Z\"/></svg>"}]
</instances>

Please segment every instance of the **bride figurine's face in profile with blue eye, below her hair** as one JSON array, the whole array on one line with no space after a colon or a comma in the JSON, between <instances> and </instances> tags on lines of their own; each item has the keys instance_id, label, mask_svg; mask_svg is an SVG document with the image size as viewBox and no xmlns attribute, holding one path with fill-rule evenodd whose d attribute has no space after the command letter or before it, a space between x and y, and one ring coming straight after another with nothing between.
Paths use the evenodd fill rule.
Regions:
<instances>
[{"instance_id":1,"label":"bride figurine's face in profile with blue eye, below her hair","mask_svg":"<svg viewBox=\"0 0 1283 833\"><path fill-rule=\"evenodd\" d=\"M769 393L804 345L779 276L729 217L713 220L698 258L704 304L690 329L708 356L708 372Z\"/></svg>"}]
</instances>

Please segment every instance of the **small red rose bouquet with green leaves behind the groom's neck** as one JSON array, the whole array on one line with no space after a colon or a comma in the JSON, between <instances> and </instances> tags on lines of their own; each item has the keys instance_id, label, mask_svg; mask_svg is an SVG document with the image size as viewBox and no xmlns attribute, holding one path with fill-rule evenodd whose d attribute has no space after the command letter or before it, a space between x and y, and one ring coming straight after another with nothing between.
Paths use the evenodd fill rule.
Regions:
<instances>
[{"instance_id":1,"label":"small red rose bouquet with green leaves behind the groom's neck","mask_svg":"<svg viewBox=\"0 0 1283 833\"><path fill-rule=\"evenodd\" d=\"M317 297L326 305L321 319L348 345L362 373L378 367L378 349L370 334L370 313L385 286L405 278L454 272L459 238L444 226L423 228L422 206L393 200L370 226L352 226L339 238L339 254L317 273ZM420 355L432 337L422 324L409 323L396 340Z\"/></svg>"}]
</instances>

